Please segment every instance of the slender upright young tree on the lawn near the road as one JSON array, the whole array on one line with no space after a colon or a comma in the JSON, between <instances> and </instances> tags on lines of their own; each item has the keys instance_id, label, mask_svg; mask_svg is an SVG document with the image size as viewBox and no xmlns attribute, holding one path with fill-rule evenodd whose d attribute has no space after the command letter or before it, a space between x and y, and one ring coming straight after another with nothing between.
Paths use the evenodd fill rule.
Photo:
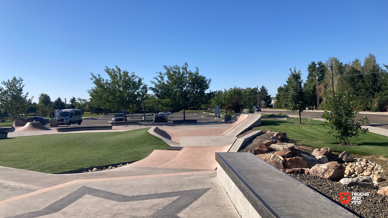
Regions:
<instances>
[{"instance_id":1,"label":"slender upright young tree on the lawn near the road","mask_svg":"<svg viewBox=\"0 0 388 218\"><path fill-rule=\"evenodd\" d=\"M290 68L289 76L289 95L287 99L288 109L290 111L299 111L299 124L301 124L300 113L306 109L305 93L303 93L303 80L301 79L300 70L296 72Z\"/></svg>"}]
</instances>

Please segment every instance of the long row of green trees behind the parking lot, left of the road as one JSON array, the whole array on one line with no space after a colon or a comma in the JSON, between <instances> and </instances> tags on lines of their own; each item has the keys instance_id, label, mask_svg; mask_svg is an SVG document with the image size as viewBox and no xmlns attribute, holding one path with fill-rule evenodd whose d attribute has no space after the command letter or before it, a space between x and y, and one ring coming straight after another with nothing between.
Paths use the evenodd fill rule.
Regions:
<instances>
[{"instance_id":1,"label":"long row of green trees behind the parking lot, left of the road","mask_svg":"<svg viewBox=\"0 0 388 218\"><path fill-rule=\"evenodd\" d=\"M211 79L199 74L198 67L191 71L188 66L187 63L183 66L163 66L164 72L156 74L150 87L134 72L121 70L118 66L105 67L108 78L91 73L90 80L94 86L87 90L90 99L72 97L69 102L60 97L52 101L46 93L40 94L38 103L32 102L33 97L28 98L28 92L23 94L23 79L14 77L3 81L5 87L0 87L0 108L3 115L14 114L15 119L20 113L38 112L42 116L49 116L54 109L65 108L96 114L182 110L185 119L185 111L190 109L209 109L219 105L227 114L231 114L242 112L243 109L253 112L253 106L258 106L261 100L265 101L266 107L271 103L271 96L264 86L259 90L256 87L234 87L211 91ZM152 93L148 93L149 90Z\"/></svg>"}]
</instances>

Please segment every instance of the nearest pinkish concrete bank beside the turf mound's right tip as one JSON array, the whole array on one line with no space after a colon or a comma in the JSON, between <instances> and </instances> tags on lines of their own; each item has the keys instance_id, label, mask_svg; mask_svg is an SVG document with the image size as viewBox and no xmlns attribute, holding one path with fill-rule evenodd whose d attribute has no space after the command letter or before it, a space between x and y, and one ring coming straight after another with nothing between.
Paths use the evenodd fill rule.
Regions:
<instances>
[{"instance_id":1,"label":"nearest pinkish concrete bank beside the turf mound's right tip","mask_svg":"<svg viewBox=\"0 0 388 218\"><path fill-rule=\"evenodd\" d=\"M215 152L227 152L230 146L186 146L180 151L154 150L149 156L129 166L215 170Z\"/></svg>"}]
</instances>

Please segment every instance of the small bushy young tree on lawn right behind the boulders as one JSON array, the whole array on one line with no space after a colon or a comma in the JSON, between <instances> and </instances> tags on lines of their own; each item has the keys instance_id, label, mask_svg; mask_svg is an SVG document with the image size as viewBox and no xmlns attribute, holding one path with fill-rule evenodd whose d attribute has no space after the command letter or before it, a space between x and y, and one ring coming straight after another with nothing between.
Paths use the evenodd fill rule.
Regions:
<instances>
[{"instance_id":1,"label":"small bushy young tree on lawn right behind the boulders","mask_svg":"<svg viewBox=\"0 0 388 218\"><path fill-rule=\"evenodd\" d=\"M329 97L328 111L324 111L322 118L326 119L325 125L331 130L328 132L334 138L340 139L344 144L349 144L349 139L358 137L359 134L365 134L369 131L367 128L362 128L361 125L368 125L368 118L356 119L356 114L359 112L354 109L351 96L348 93L336 92L333 97Z\"/></svg>"}]
</instances>

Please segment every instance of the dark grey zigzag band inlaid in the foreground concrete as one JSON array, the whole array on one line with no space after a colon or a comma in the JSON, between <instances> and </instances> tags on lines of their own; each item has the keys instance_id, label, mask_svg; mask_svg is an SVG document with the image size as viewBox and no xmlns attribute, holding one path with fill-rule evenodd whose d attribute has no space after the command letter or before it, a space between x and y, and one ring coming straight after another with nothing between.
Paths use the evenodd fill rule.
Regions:
<instances>
[{"instance_id":1,"label":"dark grey zigzag band inlaid in the foreground concrete","mask_svg":"<svg viewBox=\"0 0 388 218\"><path fill-rule=\"evenodd\" d=\"M108 192L100 189L94 189L91 187L83 186L75 192L69 194L66 197L63 197L59 201L54 202L50 206L43 208L38 211L33 211L30 213L24 213L16 216L9 216L8 218L35 218L38 216L50 215L53 213L57 213L62 209L66 208L70 204L73 204L75 201L80 199L85 195L96 196L104 199L108 199L116 202L133 202L133 201L144 201L151 199L161 199L168 197L178 197L177 200L171 202L165 208L161 209L154 215L153 218L179 218L178 213L183 211L187 206L189 206L192 202L196 201L199 197L205 194L210 188L207 189L192 189L192 190L183 190L176 192L165 192L158 194L145 194L139 196L125 196L122 194L117 194L113 192Z\"/></svg>"}]
</instances>

